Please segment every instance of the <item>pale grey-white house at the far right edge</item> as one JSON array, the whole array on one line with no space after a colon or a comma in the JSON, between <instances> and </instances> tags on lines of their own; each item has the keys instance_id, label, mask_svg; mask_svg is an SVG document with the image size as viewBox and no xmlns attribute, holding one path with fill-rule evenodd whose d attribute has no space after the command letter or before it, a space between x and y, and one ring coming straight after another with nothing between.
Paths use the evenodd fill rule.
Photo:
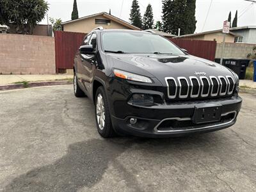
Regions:
<instances>
[{"instance_id":1,"label":"pale grey-white house at the far right edge","mask_svg":"<svg viewBox=\"0 0 256 192\"><path fill-rule=\"evenodd\" d=\"M244 44L256 44L256 26L231 28L230 31L240 35L235 38L235 42Z\"/></svg>"}]
</instances>

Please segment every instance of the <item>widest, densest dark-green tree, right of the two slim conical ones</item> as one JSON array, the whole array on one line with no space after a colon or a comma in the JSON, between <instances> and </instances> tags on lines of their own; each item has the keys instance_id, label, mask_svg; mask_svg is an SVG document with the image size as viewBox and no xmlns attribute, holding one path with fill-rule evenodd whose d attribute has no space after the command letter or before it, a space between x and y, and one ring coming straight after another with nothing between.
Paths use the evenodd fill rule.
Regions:
<instances>
[{"instance_id":1,"label":"widest, densest dark-green tree, right of the two slim conical ones","mask_svg":"<svg viewBox=\"0 0 256 192\"><path fill-rule=\"evenodd\" d=\"M163 31L180 35L194 33L196 29L195 0L163 0Z\"/></svg>"}]
</instances>

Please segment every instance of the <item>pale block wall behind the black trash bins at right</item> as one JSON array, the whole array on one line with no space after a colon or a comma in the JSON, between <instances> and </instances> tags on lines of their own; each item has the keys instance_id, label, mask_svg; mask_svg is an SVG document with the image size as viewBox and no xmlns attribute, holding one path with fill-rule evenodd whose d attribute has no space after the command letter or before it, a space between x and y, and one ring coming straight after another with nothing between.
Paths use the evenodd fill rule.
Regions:
<instances>
[{"instance_id":1,"label":"pale block wall behind the black trash bins at right","mask_svg":"<svg viewBox=\"0 0 256 192\"><path fill-rule=\"evenodd\" d=\"M256 44L225 43L223 58L246 59L248 53L252 52ZM222 44L217 44L215 58L221 58Z\"/></svg>"}]
</instances>

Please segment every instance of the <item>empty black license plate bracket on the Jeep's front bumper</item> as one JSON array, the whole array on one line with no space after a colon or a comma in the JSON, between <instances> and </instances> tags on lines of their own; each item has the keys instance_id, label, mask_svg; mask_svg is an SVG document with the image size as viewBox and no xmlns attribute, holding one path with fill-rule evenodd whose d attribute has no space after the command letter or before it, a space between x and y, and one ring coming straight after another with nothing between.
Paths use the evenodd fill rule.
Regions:
<instances>
[{"instance_id":1,"label":"empty black license plate bracket on the Jeep's front bumper","mask_svg":"<svg viewBox=\"0 0 256 192\"><path fill-rule=\"evenodd\" d=\"M221 104L198 104L195 106L193 123L218 122L221 120Z\"/></svg>"}]
</instances>

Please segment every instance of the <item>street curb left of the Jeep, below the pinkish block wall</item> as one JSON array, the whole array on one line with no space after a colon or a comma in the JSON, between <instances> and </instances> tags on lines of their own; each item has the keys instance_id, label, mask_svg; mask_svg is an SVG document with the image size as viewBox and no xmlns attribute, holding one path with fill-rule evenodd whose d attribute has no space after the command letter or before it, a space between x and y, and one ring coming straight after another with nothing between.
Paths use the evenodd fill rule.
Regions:
<instances>
[{"instance_id":1,"label":"street curb left of the Jeep, below the pinkish block wall","mask_svg":"<svg viewBox=\"0 0 256 192\"><path fill-rule=\"evenodd\" d=\"M31 88L31 87L36 87L36 86L62 85L62 84L72 84L72 82L70 82L70 81L40 81L40 82L28 83L28 84L26 84L26 86L22 83L20 83L20 84L4 84L4 85L0 85L0 91Z\"/></svg>"}]
</instances>

